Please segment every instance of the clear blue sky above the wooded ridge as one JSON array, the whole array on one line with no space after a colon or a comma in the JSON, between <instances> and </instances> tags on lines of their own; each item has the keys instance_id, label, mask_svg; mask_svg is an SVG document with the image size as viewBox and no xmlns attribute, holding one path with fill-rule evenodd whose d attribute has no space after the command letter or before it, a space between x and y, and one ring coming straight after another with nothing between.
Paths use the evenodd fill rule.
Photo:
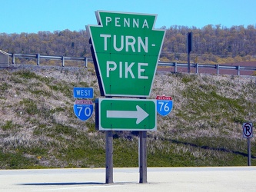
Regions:
<instances>
[{"instance_id":1,"label":"clear blue sky above the wooded ridge","mask_svg":"<svg viewBox=\"0 0 256 192\"><path fill-rule=\"evenodd\" d=\"M0 33L84 30L95 11L157 14L155 28L256 25L255 0L0 0Z\"/></svg>"}]
</instances>

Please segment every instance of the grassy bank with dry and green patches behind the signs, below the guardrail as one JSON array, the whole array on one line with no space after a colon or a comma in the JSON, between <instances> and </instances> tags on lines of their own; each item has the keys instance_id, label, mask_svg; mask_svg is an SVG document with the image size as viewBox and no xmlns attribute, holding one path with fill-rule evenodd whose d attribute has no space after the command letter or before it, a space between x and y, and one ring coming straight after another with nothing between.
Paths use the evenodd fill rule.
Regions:
<instances>
[{"instance_id":1,"label":"grassy bank with dry and green patches behind the signs, below the guardrail","mask_svg":"<svg viewBox=\"0 0 256 192\"><path fill-rule=\"evenodd\" d=\"M74 87L99 97L94 68L22 66L0 70L0 169L105 167L95 114L80 121L73 112ZM148 167L247 165L241 127L256 124L255 76L158 72L151 98L162 94L174 108L148 131ZM114 167L138 167L138 133L114 135Z\"/></svg>"}]
</instances>

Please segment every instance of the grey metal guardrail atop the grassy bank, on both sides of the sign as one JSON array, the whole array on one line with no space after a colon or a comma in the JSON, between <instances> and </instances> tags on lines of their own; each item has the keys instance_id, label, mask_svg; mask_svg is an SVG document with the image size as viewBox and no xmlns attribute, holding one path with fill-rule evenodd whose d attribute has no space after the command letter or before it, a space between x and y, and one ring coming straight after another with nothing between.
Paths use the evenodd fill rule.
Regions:
<instances>
[{"instance_id":1,"label":"grey metal guardrail atop the grassy bank, on both sides of the sign","mask_svg":"<svg viewBox=\"0 0 256 192\"><path fill-rule=\"evenodd\" d=\"M27 54L8 54L12 57L12 64L15 65L15 58L35 58L37 59L37 65L40 65L40 59L53 59L62 60L62 67L65 67L65 61L84 61L85 67L87 68L88 61L93 61L92 58L78 58L78 57L65 57L65 56L48 56L48 55L27 55ZM174 67L174 72L178 72L179 68L188 68L188 63L177 63L177 62L163 62L159 61L158 66ZM220 69L231 69L237 70L237 74L240 75L240 71L256 71L256 67L249 66L231 66L231 65L210 65L210 64L190 64L191 68L195 68L195 73L199 73L199 68L211 68L216 69L216 73L219 74Z\"/></svg>"}]
</instances>

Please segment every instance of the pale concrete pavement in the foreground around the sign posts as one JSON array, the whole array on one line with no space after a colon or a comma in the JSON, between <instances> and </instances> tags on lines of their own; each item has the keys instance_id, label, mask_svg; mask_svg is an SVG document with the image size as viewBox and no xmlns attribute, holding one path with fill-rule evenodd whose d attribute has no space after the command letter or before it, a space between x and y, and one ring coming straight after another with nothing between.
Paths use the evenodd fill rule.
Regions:
<instances>
[{"instance_id":1,"label":"pale concrete pavement in the foreground around the sign posts","mask_svg":"<svg viewBox=\"0 0 256 192\"><path fill-rule=\"evenodd\" d=\"M148 167L139 184L138 168L0 170L0 191L256 191L256 167Z\"/></svg>"}]
</instances>

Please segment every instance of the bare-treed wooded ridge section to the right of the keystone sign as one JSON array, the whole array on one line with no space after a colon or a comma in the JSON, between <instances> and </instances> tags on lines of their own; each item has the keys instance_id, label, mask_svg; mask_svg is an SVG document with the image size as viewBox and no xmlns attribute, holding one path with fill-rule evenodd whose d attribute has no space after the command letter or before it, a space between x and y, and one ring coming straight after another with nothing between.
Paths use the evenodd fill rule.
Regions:
<instances>
[{"instance_id":1,"label":"bare-treed wooded ridge section to the right of the keystone sign","mask_svg":"<svg viewBox=\"0 0 256 192\"><path fill-rule=\"evenodd\" d=\"M193 32L191 53L195 62L256 61L254 25L247 28L243 25L231 28L221 25L206 25L204 28L171 26L166 31L162 56L167 60L186 60L188 31Z\"/></svg>"}]
</instances>

